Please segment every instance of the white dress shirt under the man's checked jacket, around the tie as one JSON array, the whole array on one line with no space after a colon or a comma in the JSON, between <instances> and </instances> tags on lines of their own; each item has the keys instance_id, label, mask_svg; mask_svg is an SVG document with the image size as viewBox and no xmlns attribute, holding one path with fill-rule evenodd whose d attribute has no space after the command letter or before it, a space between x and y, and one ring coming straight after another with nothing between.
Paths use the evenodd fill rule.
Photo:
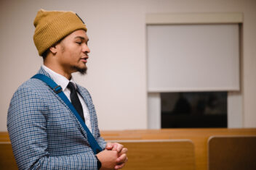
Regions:
<instances>
[{"instance_id":1,"label":"white dress shirt under the man's checked jacket, around the tie","mask_svg":"<svg viewBox=\"0 0 256 170\"><path fill-rule=\"evenodd\" d=\"M61 88L63 88L63 92L64 94L68 97L68 100L71 101L71 90L69 90L67 88L68 86L68 82L72 82L73 85L76 88L76 83L73 81L73 77L71 77L71 80L68 80L66 77L64 77L63 75L58 74L57 72L52 71L52 69L49 69L48 67L42 65L43 69L49 73L49 75L52 77L52 79L56 82L57 85L60 85ZM81 106L83 108L83 112L84 112L84 121L85 124L87 124L87 127L89 129L89 131L92 132L92 127L91 127L91 121L89 119L89 110L87 107L87 104L84 102L84 99L81 97L81 95L79 93L77 93L77 95L79 95L79 100L81 102Z\"/></svg>"}]
</instances>

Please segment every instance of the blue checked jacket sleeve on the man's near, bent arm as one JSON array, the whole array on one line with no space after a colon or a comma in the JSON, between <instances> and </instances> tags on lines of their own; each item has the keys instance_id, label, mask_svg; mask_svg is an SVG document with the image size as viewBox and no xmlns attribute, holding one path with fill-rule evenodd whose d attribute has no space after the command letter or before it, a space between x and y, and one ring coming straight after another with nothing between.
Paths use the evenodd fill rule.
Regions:
<instances>
[{"instance_id":1,"label":"blue checked jacket sleeve on the man's near, bent arm","mask_svg":"<svg viewBox=\"0 0 256 170\"><path fill-rule=\"evenodd\" d=\"M92 152L49 156L47 106L31 88L19 88L12 97L7 129L19 169L97 169Z\"/></svg>"}]
</instances>

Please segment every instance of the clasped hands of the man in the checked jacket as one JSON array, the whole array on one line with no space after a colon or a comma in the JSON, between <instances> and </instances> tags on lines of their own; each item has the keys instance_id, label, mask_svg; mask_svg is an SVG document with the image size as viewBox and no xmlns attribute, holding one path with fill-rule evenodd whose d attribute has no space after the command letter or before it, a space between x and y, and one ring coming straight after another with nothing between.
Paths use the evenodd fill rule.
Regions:
<instances>
[{"instance_id":1,"label":"clasped hands of the man in the checked jacket","mask_svg":"<svg viewBox=\"0 0 256 170\"><path fill-rule=\"evenodd\" d=\"M97 158L101 162L100 170L121 169L128 161L127 148L120 143L107 143L105 150L97 153Z\"/></svg>"}]
</instances>

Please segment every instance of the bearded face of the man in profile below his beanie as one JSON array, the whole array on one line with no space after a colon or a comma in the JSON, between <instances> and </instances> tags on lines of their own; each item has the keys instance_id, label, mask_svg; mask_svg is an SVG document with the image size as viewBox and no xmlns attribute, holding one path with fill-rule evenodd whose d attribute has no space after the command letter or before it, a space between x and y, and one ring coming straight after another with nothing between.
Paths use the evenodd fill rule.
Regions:
<instances>
[{"instance_id":1,"label":"bearded face of the man in profile below his beanie","mask_svg":"<svg viewBox=\"0 0 256 170\"><path fill-rule=\"evenodd\" d=\"M86 73L88 53L90 52L87 46L88 41L87 33L84 30L76 30L57 44L58 62L66 73Z\"/></svg>"}]
</instances>

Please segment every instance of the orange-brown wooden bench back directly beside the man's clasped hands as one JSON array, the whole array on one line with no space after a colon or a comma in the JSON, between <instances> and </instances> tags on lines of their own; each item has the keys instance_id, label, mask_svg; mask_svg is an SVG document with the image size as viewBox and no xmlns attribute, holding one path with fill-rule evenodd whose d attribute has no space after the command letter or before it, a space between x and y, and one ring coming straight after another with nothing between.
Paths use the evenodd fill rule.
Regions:
<instances>
[{"instance_id":1,"label":"orange-brown wooden bench back directly beside the man's clasped hands","mask_svg":"<svg viewBox=\"0 0 256 170\"><path fill-rule=\"evenodd\" d=\"M195 153L191 140L118 141L128 150L124 169L195 170Z\"/></svg>"}]
</instances>

